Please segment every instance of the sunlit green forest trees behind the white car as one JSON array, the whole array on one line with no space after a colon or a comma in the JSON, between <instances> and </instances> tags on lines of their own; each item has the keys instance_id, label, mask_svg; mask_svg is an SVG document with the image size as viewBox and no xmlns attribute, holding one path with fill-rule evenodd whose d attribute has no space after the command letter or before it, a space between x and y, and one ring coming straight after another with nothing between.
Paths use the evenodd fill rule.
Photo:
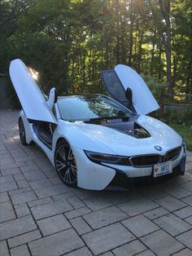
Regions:
<instances>
[{"instance_id":1,"label":"sunlit green forest trees behind the white car","mask_svg":"<svg viewBox=\"0 0 192 256\"><path fill-rule=\"evenodd\" d=\"M127 64L159 102L180 102L192 94L191 18L191 0L2 0L0 73L20 58L59 95L104 93L101 70ZM192 149L191 108L155 115Z\"/></svg>"}]
</instances>

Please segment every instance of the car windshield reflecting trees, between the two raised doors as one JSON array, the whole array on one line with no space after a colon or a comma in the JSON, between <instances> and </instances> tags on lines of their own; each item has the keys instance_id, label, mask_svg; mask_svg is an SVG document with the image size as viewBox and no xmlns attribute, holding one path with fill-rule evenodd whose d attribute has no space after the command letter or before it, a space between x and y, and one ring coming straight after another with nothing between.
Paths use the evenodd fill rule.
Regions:
<instances>
[{"instance_id":1,"label":"car windshield reflecting trees, between the two raised doors","mask_svg":"<svg viewBox=\"0 0 192 256\"><path fill-rule=\"evenodd\" d=\"M104 95L69 96L58 99L61 118L68 121L102 117L129 117L131 112Z\"/></svg>"}]
</instances>

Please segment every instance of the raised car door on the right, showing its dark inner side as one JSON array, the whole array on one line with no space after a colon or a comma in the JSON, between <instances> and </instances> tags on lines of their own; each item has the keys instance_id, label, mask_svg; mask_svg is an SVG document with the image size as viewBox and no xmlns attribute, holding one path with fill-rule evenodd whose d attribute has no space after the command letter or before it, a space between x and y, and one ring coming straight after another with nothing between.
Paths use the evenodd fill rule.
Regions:
<instances>
[{"instance_id":1,"label":"raised car door on the right, showing its dark inner side","mask_svg":"<svg viewBox=\"0 0 192 256\"><path fill-rule=\"evenodd\" d=\"M131 111L146 115L159 108L148 86L132 68L119 64L102 72L103 84L109 94ZM126 97L126 90L132 92L132 100Z\"/></svg>"}]
</instances>

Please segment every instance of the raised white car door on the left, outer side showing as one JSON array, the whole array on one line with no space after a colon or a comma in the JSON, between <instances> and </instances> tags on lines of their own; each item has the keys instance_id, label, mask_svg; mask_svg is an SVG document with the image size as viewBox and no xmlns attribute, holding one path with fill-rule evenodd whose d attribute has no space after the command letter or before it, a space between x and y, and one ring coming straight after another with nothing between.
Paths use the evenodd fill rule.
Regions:
<instances>
[{"instance_id":1,"label":"raised white car door on the left, outer side showing","mask_svg":"<svg viewBox=\"0 0 192 256\"><path fill-rule=\"evenodd\" d=\"M11 61L10 77L28 121L46 121L56 124L56 118L45 96L21 60Z\"/></svg>"}]
</instances>

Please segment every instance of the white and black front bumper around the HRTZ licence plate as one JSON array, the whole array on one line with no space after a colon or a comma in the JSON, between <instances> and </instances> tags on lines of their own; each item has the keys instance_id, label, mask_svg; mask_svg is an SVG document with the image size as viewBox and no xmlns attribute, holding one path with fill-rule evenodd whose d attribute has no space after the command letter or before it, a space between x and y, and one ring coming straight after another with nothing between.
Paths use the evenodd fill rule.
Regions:
<instances>
[{"instance_id":1,"label":"white and black front bumper around the HRTZ licence plate","mask_svg":"<svg viewBox=\"0 0 192 256\"><path fill-rule=\"evenodd\" d=\"M136 168L133 166L119 166L107 163L95 163L90 161L81 148L72 148L76 157L77 165L77 186L79 188L91 190L103 190L111 185L128 187L130 183L137 180L152 180L153 167ZM183 148L177 159L172 161L172 174L184 174L185 172L185 152ZM171 175L166 175L168 178ZM164 179L164 177L163 177ZM155 180L159 180L156 178Z\"/></svg>"}]
</instances>

